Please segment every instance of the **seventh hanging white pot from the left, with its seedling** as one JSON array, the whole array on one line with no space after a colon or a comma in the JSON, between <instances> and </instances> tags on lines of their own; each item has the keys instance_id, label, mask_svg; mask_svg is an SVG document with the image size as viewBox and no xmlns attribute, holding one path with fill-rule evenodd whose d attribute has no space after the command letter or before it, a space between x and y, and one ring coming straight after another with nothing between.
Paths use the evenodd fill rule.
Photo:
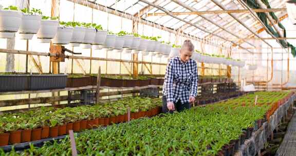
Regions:
<instances>
[{"instance_id":1,"label":"seventh hanging white pot from the left, with its seedling","mask_svg":"<svg viewBox=\"0 0 296 156\"><path fill-rule=\"evenodd\" d=\"M102 45L105 43L106 41L106 37L107 37L107 31L103 30L103 27L101 25L97 25L97 24L93 24L92 25L95 29L96 29L96 36L95 36L95 40L93 42L93 47L94 49L101 49Z\"/></svg>"}]
</instances>

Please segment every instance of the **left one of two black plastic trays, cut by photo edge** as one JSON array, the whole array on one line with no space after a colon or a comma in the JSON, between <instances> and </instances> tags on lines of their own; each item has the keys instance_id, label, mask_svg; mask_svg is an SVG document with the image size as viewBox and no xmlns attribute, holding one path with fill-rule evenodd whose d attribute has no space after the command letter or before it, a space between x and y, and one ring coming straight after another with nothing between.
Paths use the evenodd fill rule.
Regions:
<instances>
[{"instance_id":1,"label":"left one of two black plastic trays, cut by photo edge","mask_svg":"<svg viewBox=\"0 0 296 156\"><path fill-rule=\"evenodd\" d=\"M0 75L0 92L28 90L29 75Z\"/></svg>"}]
</instances>

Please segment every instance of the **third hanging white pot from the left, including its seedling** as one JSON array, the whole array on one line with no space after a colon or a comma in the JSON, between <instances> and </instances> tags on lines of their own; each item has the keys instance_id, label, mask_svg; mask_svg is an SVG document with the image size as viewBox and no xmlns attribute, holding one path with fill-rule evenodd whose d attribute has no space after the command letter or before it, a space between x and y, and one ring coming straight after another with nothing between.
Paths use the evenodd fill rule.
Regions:
<instances>
[{"instance_id":1,"label":"third hanging white pot from the left, including its seedling","mask_svg":"<svg viewBox=\"0 0 296 156\"><path fill-rule=\"evenodd\" d=\"M37 38L42 43L49 43L58 31L59 21L58 17L42 16L41 26L37 32Z\"/></svg>"}]
</instances>

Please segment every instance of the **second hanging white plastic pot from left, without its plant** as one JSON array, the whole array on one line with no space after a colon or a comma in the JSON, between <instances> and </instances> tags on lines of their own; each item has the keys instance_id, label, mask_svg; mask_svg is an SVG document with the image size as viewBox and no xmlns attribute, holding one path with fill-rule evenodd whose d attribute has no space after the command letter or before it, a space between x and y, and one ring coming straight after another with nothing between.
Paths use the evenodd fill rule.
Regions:
<instances>
[{"instance_id":1,"label":"second hanging white plastic pot from left, without its plant","mask_svg":"<svg viewBox=\"0 0 296 156\"><path fill-rule=\"evenodd\" d=\"M22 17L22 24L18 29L18 33L35 34L41 26L40 15L24 14Z\"/></svg>"}]
</instances>

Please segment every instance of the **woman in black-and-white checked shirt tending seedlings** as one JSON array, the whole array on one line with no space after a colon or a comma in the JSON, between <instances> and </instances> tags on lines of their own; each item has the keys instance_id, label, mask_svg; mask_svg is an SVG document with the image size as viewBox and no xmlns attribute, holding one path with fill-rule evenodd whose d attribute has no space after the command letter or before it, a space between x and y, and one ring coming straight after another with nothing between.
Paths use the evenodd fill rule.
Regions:
<instances>
[{"instance_id":1,"label":"woman in black-and-white checked shirt tending seedlings","mask_svg":"<svg viewBox=\"0 0 296 156\"><path fill-rule=\"evenodd\" d=\"M184 41L179 56L173 57L165 71L162 112L172 113L190 108L197 94L197 65L191 56L194 45Z\"/></svg>"}]
</instances>

